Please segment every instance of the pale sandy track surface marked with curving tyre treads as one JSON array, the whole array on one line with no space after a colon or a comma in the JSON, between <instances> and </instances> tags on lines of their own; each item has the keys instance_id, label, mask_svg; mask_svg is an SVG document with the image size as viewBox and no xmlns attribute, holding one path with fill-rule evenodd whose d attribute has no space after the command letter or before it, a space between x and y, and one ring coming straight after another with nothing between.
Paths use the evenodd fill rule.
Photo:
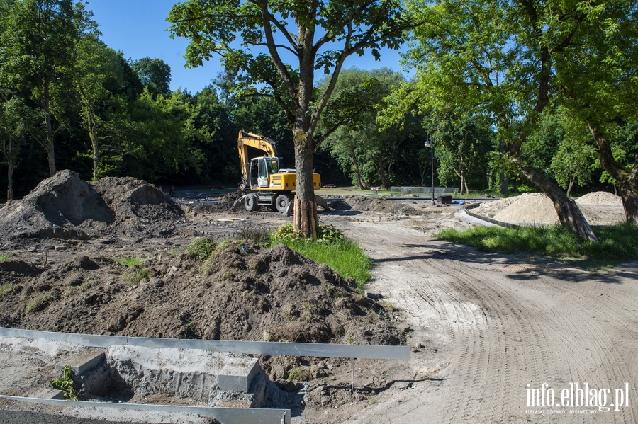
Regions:
<instances>
[{"instance_id":1,"label":"pale sandy track surface marked with curving tyre treads","mask_svg":"<svg viewBox=\"0 0 638 424\"><path fill-rule=\"evenodd\" d=\"M570 382L612 391L629 382L630 393L636 393L638 312L631 302L638 291L635 285L614 285L620 288L600 296L601 283L530 272L537 268L534 265L495 267L476 258L448 259L444 243L396 223L357 227L363 231L351 237L376 260L376 272L390 292L388 300L396 299L411 316L429 309L420 322L427 323L425 331L442 334L439 355L446 358L440 361L452 363L437 375L447 378L445 382L413 394L421 396L420 403L393 406L405 411L396 411L391 422L418 416L447 423L636 422L631 408L598 416L525 415L526 384L539 388L547 382L560 393ZM519 273L510 272L515 270ZM398 275L401 281L386 282ZM432 317L438 321L428 322ZM617 336L623 334L627 337L618 343Z\"/></svg>"}]
</instances>

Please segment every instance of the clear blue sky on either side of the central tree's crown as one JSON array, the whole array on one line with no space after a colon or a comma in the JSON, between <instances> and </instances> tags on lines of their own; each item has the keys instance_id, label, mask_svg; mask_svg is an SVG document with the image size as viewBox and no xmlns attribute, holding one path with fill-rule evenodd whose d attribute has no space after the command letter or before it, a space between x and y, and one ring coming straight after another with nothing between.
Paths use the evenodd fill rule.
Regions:
<instances>
[{"instance_id":1,"label":"clear blue sky on either side of the central tree's crown","mask_svg":"<svg viewBox=\"0 0 638 424\"><path fill-rule=\"evenodd\" d=\"M188 40L170 38L166 18L177 0L89 0L84 1L86 9L94 13L94 21L99 23L101 40L113 50L123 52L126 59L157 57L169 64L172 72L171 89L186 88L197 93L211 84L222 71L217 60L207 62L203 67L184 68L184 52ZM352 56L346 60L345 68L377 69L388 67L401 71L399 55L396 51L381 52L381 61L372 55ZM321 74L320 76L323 76Z\"/></svg>"}]
</instances>

